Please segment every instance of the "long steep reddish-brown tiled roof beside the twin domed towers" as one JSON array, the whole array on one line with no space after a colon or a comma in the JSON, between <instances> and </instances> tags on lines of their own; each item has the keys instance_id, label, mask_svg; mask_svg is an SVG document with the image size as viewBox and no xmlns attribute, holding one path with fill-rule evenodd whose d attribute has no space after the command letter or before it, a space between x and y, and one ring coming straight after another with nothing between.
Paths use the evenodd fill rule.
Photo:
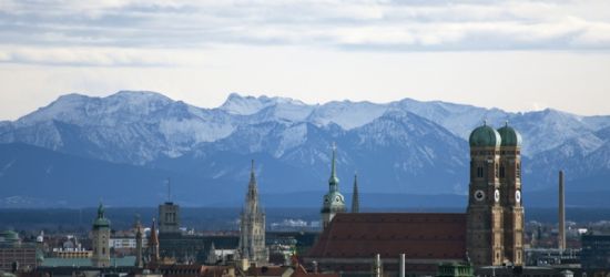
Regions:
<instances>
[{"instance_id":1,"label":"long steep reddish-brown tiled roof beside the twin domed towers","mask_svg":"<svg viewBox=\"0 0 610 277\"><path fill-rule=\"evenodd\" d=\"M466 214L339 213L312 247L312 258L462 259Z\"/></svg>"}]
</instances>

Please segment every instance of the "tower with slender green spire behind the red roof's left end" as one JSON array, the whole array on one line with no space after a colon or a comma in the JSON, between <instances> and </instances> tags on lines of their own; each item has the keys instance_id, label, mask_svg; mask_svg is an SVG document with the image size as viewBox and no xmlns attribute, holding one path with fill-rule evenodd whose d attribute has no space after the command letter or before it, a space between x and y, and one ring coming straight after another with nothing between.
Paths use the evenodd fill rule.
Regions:
<instances>
[{"instance_id":1,"label":"tower with slender green spire behind the red roof's left end","mask_svg":"<svg viewBox=\"0 0 610 277\"><path fill-rule=\"evenodd\" d=\"M331 178L328 178L328 193L324 195L322 204L322 227L326 228L337 213L345 213L345 198L339 193L339 178L336 173L337 147L333 144L333 161L331 164Z\"/></svg>"}]
</instances>

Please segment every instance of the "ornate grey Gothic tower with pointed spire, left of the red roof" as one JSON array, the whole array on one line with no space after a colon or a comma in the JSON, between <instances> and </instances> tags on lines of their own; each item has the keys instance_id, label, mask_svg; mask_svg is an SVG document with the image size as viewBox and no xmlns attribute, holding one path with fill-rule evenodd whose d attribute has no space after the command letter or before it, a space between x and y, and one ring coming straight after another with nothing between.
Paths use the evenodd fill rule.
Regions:
<instances>
[{"instance_id":1,"label":"ornate grey Gothic tower with pointed spire, left of the red roof","mask_svg":"<svg viewBox=\"0 0 610 277\"><path fill-rule=\"evenodd\" d=\"M240 246L237 249L240 257L250 261L266 264L268 252L265 247L265 214L258 203L254 161L252 161L245 207L242 211L240 224Z\"/></svg>"}]
</instances>

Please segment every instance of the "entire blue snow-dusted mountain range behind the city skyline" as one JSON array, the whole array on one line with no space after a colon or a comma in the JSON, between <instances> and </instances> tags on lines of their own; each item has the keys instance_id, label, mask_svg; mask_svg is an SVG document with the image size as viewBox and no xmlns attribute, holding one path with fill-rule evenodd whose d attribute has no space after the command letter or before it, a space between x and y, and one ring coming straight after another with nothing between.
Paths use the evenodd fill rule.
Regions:
<instances>
[{"instance_id":1,"label":"entire blue snow-dusted mountain range behind the city skyline","mask_svg":"<svg viewBox=\"0 0 610 277\"><path fill-rule=\"evenodd\" d=\"M327 189L333 142L340 189L350 192L357 172L365 206L376 205L367 194L404 195L405 205L421 203L414 199L420 195L454 195L465 205L467 140L484 119L497 127L508 121L521 133L526 193L555 192L560 168L575 195L610 192L610 116L411 99L309 105L238 94L201 109L125 91L68 94L0 122L0 206L92 206L100 198L152 206L166 198L166 178L183 205L240 206L252 158L268 203L317 206L319 199L303 203L298 195L322 197Z\"/></svg>"}]
</instances>

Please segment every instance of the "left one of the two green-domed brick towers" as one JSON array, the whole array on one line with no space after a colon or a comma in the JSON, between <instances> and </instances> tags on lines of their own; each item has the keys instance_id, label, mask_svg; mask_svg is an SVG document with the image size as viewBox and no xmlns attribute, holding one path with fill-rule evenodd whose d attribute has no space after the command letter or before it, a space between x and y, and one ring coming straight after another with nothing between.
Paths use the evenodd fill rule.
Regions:
<instances>
[{"instance_id":1,"label":"left one of the two green-domed brick towers","mask_svg":"<svg viewBox=\"0 0 610 277\"><path fill-rule=\"evenodd\" d=\"M505 259L504 211L500 198L500 134L484 123L470 133L470 185L466 247L476 266Z\"/></svg>"}]
</instances>

